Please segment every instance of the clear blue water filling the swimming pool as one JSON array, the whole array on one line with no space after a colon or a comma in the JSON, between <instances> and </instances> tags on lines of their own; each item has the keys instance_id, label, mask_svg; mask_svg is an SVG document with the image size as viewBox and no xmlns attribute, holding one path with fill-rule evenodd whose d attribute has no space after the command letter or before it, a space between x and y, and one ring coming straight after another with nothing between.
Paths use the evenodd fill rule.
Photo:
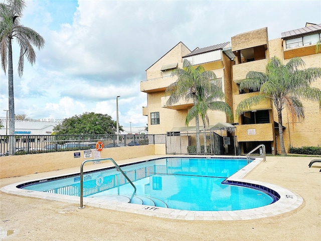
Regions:
<instances>
[{"instance_id":1,"label":"clear blue water filling the swimming pool","mask_svg":"<svg viewBox=\"0 0 321 241\"><path fill-rule=\"evenodd\" d=\"M247 165L246 159L162 158L121 166L137 188L132 203L192 211L228 211L268 205L268 191L224 184ZM80 196L80 176L25 183L20 188ZM133 187L116 168L84 174L84 197L124 197Z\"/></svg>"}]
</instances>

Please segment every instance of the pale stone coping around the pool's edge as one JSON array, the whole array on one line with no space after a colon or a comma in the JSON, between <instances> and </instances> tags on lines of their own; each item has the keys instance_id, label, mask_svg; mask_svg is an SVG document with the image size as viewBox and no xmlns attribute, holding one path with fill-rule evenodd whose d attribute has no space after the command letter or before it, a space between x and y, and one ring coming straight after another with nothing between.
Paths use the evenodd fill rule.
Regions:
<instances>
[{"instance_id":1,"label":"pale stone coping around the pool's edge","mask_svg":"<svg viewBox=\"0 0 321 241\"><path fill-rule=\"evenodd\" d=\"M164 157L169 157L169 156L164 156ZM175 156L175 157L187 157L187 156ZM188 157L200 157L200 158L217 158L218 157L218 158L244 159L244 157L235 157L235 156L227 157L227 156L192 156L191 155ZM152 159L145 159L138 162L154 160L154 159L159 159L159 157L152 158ZM169 219L180 219L180 220L250 220L250 219L275 216L275 215L286 213L298 208L302 204L303 199L297 193L271 183L243 179L243 177L245 177L250 171L252 171L261 161L263 161L263 158L255 158L247 166L245 166L244 168L242 168L241 170L239 170L238 172L236 172L235 174L227 178L226 181L247 183L250 185L251 184L258 185L258 186L262 186L262 187L266 187L271 190L274 190L279 194L279 200L277 200L272 204L262 206L262 207L243 209L243 210L234 210L234 211L188 211L188 210L154 207L154 206L140 205L140 204L133 204L133 203L124 203L124 202L119 202L115 199L113 201L108 201L105 199L87 198L87 197L84 197L83 204L85 206L92 206L92 207L98 207L98 208L104 208L104 209L110 209L110 210L131 212L131 213L142 214L147 216L155 216L155 217L169 218ZM133 163L125 163L125 164L122 164L121 166L128 165L128 164L133 164ZM96 170L96 169L92 169L92 170ZM70 173L70 175L72 174L74 173ZM54 178L54 177L58 177L58 175L51 176L48 178ZM68 202L68 203L78 204L80 206L79 197L17 188L18 185L21 185L23 183L42 180L42 179L44 178L13 183L1 188L0 190L6 193L14 194L14 195Z\"/></svg>"}]
</instances>

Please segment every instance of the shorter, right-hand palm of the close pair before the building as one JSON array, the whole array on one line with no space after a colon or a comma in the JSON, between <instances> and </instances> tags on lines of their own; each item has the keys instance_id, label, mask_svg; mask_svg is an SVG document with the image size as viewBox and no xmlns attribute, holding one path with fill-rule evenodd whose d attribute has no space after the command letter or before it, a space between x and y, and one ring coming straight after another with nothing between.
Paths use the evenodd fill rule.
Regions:
<instances>
[{"instance_id":1,"label":"shorter, right-hand palm of the close pair before the building","mask_svg":"<svg viewBox=\"0 0 321 241\"><path fill-rule=\"evenodd\" d=\"M217 87L214 83L212 83L211 91L209 95L204 95L204 92L201 92L198 95L198 102L194 105L187 113L185 119L185 125L188 126L189 123L195 118L197 115L201 116L203 122L203 140L204 140L204 153L207 153L207 145L206 145L206 126L209 125L209 116L207 112L211 110L219 110L225 112L229 119L233 118L233 113L231 107L223 101L218 101L217 99L224 99L224 92L221 88Z\"/></svg>"}]
</instances>

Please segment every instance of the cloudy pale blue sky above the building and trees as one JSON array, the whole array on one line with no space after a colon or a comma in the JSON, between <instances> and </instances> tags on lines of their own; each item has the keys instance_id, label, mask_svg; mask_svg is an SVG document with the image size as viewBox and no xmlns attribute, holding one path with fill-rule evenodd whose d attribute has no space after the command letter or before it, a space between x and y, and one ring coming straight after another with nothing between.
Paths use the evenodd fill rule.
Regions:
<instances>
[{"instance_id":1,"label":"cloudy pale blue sky above the building and trees","mask_svg":"<svg viewBox=\"0 0 321 241\"><path fill-rule=\"evenodd\" d=\"M5 0L0 0L2 3ZM7 3L7 2L5 2ZM144 127L145 70L179 42L195 48L268 28L282 32L321 23L321 1L107 1L27 0L20 23L46 41L36 63L13 45L15 113L62 122L85 112L108 114L119 125ZM0 117L8 109L8 72L0 70Z\"/></svg>"}]
</instances>

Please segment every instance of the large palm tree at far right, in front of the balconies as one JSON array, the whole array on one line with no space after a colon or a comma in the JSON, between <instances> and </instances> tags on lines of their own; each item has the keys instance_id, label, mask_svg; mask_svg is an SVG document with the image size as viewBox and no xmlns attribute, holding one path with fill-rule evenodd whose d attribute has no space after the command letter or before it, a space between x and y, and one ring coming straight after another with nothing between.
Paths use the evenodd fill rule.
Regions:
<instances>
[{"instance_id":1,"label":"large palm tree at far right, in front of the balconies","mask_svg":"<svg viewBox=\"0 0 321 241\"><path fill-rule=\"evenodd\" d=\"M304 65L299 57L290 59L285 65L280 59L273 57L266 66L266 73L250 71L240 83L240 90L259 91L259 95L242 100L236 108L237 115L263 100L273 101L278 116L281 155L286 155L282 129L283 108L287 108L292 123L298 117L304 118L304 107L300 98L319 101L321 109L321 90L310 87L313 81L321 77L321 68L304 69Z\"/></svg>"}]
</instances>

